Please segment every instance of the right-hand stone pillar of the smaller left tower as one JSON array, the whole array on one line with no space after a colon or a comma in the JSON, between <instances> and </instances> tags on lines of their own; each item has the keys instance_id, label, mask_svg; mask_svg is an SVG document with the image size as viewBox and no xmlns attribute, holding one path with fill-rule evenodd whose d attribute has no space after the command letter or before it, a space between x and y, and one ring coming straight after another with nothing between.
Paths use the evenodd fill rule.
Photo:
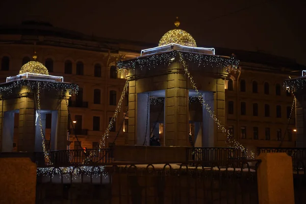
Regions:
<instances>
[{"instance_id":1,"label":"right-hand stone pillar of the smaller left tower","mask_svg":"<svg viewBox=\"0 0 306 204\"><path fill-rule=\"evenodd\" d=\"M65 98L61 100L58 107L56 150L67 149L68 110Z\"/></svg>"}]
</instances>

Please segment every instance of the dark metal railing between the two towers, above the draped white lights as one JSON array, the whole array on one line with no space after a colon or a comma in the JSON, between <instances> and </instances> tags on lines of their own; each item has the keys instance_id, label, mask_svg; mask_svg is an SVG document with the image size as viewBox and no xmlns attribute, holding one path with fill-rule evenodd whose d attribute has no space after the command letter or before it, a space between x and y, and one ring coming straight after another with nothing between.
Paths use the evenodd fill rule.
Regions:
<instances>
[{"instance_id":1,"label":"dark metal railing between the two towers, above the draped white lights","mask_svg":"<svg viewBox=\"0 0 306 204\"><path fill-rule=\"evenodd\" d=\"M78 166L78 165L99 165L113 162L113 149L73 149L47 151L47 155L52 162L49 165L45 162L43 152L35 152L35 162L37 167L55 166Z\"/></svg>"}]
</instances>

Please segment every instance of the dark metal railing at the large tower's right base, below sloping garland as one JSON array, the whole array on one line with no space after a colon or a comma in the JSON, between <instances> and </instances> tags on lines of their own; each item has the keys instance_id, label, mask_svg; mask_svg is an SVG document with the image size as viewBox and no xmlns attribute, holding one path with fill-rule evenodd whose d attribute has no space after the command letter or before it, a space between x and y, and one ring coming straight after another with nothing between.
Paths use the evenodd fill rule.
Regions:
<instances>
[{"instance_id":1,"label":"dark metal railing at the large tower's right base, below sloping garland","mask_svg":"<svg viewBox=\"0 0 306 204\"><path fill-rule=\"evenodd\" d=\"M243 151L235 147L189 147L187 148L187 161L220 161L220 165L226 166L233 161L245 160Z\"/></svg>"}]
</instances>

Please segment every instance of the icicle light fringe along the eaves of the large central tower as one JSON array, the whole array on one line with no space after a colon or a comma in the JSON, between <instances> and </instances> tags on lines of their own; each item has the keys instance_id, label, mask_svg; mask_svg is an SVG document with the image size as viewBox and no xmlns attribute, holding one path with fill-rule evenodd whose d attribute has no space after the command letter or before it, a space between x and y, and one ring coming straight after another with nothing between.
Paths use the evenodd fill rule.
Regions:
<instances>
[{"instance_id":1,"label":"icicle light fringe along the eaves of the large central tower","mask_svg":"<svg viewBox=\"0 0 306 204\"><path fill-rule=\"evenodd\" d=\"M227 67L226 70L230 71L236 70L236 67L239 65L239 60L233 57L225 58L218 55L203 55L173 50L168 53L137 58L136 60L119 61L117 62L117 67L118 69L135 69L139 66L140 69L145 67L150 69L151 67L155 68L159 65L169 65L178 53L185 61L198 64L198 66L205 67L215 65L217 67Z\"/></svg>"}]
</instances>

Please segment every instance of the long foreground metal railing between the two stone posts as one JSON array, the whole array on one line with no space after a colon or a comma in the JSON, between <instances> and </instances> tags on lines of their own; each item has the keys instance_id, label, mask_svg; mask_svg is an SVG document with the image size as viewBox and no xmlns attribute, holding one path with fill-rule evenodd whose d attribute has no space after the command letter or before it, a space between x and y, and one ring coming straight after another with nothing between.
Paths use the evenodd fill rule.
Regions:
<instances>
[{"instance_id":1,"label":"long foreground metal railing between the two stone posts","mask_svg":"<svg viewBox=\"0 0 306 204\"><path fill-rule=\"evenodd\" d=\"M257 204L257 169L243 168L248 160L240 162L234 168L220 168L218 162L210 162L208 168L202 167L202 162L195 167L186 163L114 163L68 173L54 168L49 171L52 173L37 176L36 203Z\"/></svg>"}]
</instances>

